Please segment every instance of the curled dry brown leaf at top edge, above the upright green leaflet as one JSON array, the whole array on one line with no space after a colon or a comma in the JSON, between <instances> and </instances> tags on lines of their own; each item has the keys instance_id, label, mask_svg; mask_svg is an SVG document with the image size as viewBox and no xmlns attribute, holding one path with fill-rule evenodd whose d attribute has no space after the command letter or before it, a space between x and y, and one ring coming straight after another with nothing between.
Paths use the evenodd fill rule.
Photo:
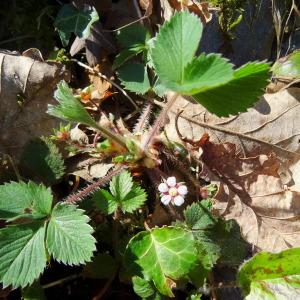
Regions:
<instances>
[{"instance_id":1,"label":"curled dry brown leaf at top edge, above the upright green leaflet","mask_svg":"<svg viewBox=\"0 0 300 300\"><path fill-rule=\"evenodd\" d=\"M212 19L212 14L209 12L209 5L207 2L199 3L194 0L168 0L169 4L175 10L188 9L190 12L193 12L200 17L203 24L208 23Z\"/></svg>"}]
</instances>

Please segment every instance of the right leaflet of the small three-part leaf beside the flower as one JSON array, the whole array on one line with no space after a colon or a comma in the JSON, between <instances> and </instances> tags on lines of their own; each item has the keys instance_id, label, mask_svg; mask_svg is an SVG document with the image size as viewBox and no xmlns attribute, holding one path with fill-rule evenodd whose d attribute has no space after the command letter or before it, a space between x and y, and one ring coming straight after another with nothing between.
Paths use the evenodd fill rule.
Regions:
<instances>
[{"instance_id":1,"label":"right leaflet of the small three-part leaf beside the flower","mask_svg":"<svg viewBox=\"0 0 300 300\"><path fill-rule=\"evenodd\" d=\"M120 208L123 212L133 212L141 207L147 200L147 194L144 189L134 184L132 190L121 201Z\"/></svg>"}]
</instances>

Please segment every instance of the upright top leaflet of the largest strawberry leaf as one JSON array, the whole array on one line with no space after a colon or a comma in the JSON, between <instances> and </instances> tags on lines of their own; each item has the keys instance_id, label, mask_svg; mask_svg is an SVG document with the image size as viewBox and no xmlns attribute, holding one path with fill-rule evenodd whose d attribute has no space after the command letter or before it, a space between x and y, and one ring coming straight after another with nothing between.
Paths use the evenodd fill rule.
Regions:
<instances>
[{"instance_id":1,"label":"upright top leaflet of the largest strawberry leaf","mask_svg":"<svg viewBox=\"0 0 300 300\"><path fill-rule=\"evenodd\" d=\"M200 19L187 11L175 13L160 27L151 56L156 73L167 88L184 82L185 68L196 53L201 35Z\"/></svg>"}]
</instances>

